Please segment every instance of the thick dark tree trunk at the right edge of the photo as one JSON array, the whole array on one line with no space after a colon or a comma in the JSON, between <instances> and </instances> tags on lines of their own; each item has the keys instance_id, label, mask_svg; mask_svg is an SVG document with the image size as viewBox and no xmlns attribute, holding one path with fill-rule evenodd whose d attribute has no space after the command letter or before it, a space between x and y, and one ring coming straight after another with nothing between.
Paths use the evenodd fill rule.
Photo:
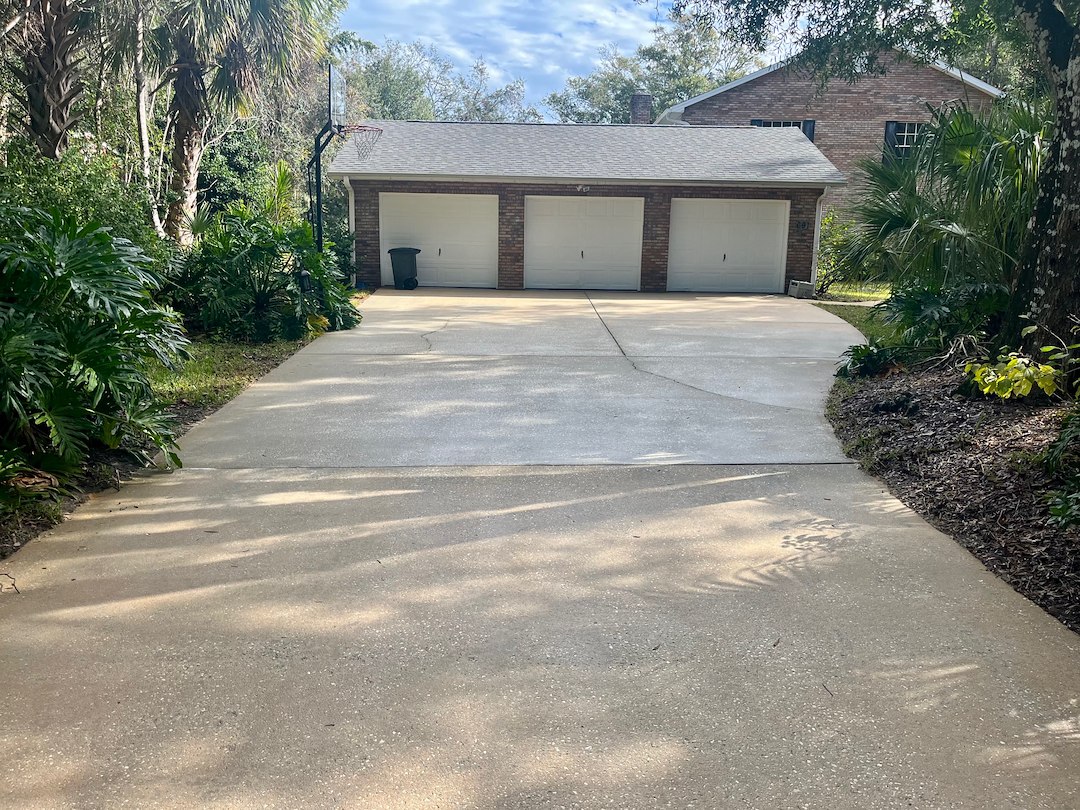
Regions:
<instances>
[{"instance_id":1,"label":"thick dark tree trunk at the right edge of the photo","mask_svg":"<svg viewBox=\"0 0 1080 810\"><path fill-rule=\"evenodd\" d=\"M1080 315L1080 37L1051 3L1025 6L1018 8L1021 21L1035 37L1055 104L1053 139L1039 173L1011 310L1042 327L1028 340L1027 348L1037 351L1053 338L1077 342L1072 318ZM1018 318L1011 321L1017 332L1025 325Z\"/></svg>"}]
</instances>

